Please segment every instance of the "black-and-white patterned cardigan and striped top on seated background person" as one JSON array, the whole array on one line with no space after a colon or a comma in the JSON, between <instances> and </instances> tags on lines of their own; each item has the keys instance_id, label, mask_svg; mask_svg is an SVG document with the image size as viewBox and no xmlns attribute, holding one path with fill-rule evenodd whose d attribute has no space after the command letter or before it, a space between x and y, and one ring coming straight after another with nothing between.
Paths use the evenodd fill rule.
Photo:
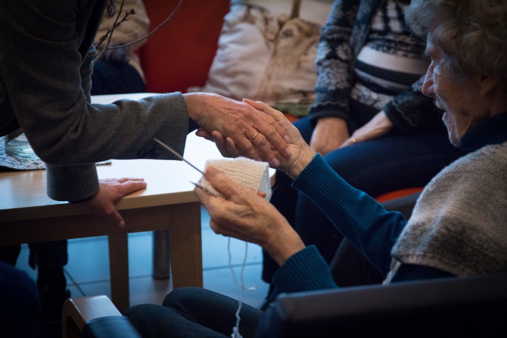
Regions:
<instances>
[{"instance_id":1,"label":"black-and-white patterned cardigan and striped top on seated background person","mask_svg":"<svg viewBox=\"0 0 507 338\"><path fill-rule=\"evenodd\" d=\"M367 54L361 55L361 60L358 56L370 50L408 60L408 66L402 67L397 75L409 74L406 78L400 76L404 78L402 81L394 81L401 81L404 86L386 93L394 95L391 100L379 99L369 105L371 117L383 109L400 131L408 133L417 128L436 128L446 132L441 121L442 111L433 105L431 98L422 94L423 77L415 76L422 72L420 61L427 61L422 53L424 42L410 36L403 20L407 4L408 1L402 0L335 1L317 47L316 98L309 110L310 118L334 116L348 120L352 117L354 112L349 109L352 91L358 99L354 86L360 84L355 70L362 67L364 71L367 61ZM386 67L385 62L375 65ZM373 92L384 93L380 87L375 87Z\"/></svg>"}]
</instances>

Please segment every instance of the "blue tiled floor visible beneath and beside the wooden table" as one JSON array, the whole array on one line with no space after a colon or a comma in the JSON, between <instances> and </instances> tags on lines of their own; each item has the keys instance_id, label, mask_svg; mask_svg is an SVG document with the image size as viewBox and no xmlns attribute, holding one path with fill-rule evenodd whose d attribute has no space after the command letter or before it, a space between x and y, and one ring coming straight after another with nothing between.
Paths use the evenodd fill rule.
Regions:
<instances>
[{"instance_id":1,"label":"blue tiled floor visible beneath and beside the wooden table","mask_svg":"<svg viewBox=\"0 0 507 338\"><path fill-rule=\"evenodd\" d=\"M228 238L215 234L209 228L209 216L204 209L201 214L204 288L237 299L241 289L235 284L229 267ZM152 233L129 234L128 240L130 305L160 304L170 291L170 281L152 278ZM232 239L230 249L231 264L239 283L245 243ZM105 236L69 240L68 257L65 273L67 287L72 296L105 294L111 297L107 238ZM23 245L17 267L35 279L37 272L28 266L27 261L28 246ZM268 285L261 280L261 262L261 248L254 244L248 244L243 281L245 287L255 289L246 290L243 301L253 307L261 305L268 290Z\"/></svg>"}]
</instances>

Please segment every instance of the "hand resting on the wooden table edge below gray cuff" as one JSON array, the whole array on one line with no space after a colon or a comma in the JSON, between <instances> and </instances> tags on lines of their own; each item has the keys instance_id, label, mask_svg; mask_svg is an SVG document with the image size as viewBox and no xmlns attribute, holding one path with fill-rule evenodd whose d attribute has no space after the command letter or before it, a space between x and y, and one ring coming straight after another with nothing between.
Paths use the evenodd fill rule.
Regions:
<instances>
[{"instance_id":1,"label":"hand resting on the wooden table edge below gray cuff","mask_svg":"<svg viewBox=\"0 0 507 338\"><path fill-rule=\"evenodd\" d=\"M137 178L121 178L100 179L99 184L99 191L91 199L83 202L83 206L91 213L112 221L120 228L125 227L125 221L116 210L116 205L125 195L146 188L146 182Z\"/></svg>"}]
</instances>

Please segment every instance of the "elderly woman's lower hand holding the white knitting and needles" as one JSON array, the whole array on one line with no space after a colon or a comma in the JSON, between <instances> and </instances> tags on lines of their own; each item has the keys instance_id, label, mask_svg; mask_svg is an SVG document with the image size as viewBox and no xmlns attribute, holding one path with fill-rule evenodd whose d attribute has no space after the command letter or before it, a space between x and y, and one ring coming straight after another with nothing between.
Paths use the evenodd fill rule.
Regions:
<instances>
[{"instance_id":1,"label":"elderly woman's lower hand holding the white knitting and needles","mask_svg":"<svg viewBox=\"0 0 507 338\"><path fill-rule=\"evenodd\" d=\"M256 243L283 264L304 249L296 231L276 208L250 189L240 186L216 168L206 169L206 179L226 199L195 188L194 193L210 216L211 229L218 234Z\"/></svg>"}]
</instances>

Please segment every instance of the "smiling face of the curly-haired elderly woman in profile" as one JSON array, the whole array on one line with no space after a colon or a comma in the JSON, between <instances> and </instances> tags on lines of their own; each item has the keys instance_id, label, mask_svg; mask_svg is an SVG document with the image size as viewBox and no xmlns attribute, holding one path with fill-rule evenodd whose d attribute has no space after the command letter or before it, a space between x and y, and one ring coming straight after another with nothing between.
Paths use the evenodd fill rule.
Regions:
<instances>
[{"instance_id":1,"label":"smiling face of the curly-haired elderly woman in profile","mask_svg":"<svg viewBox=\"0 0 507 338\"><path fill-rule=\"evenodd\" d=\"M442 56L428 33L426 52L431 64L422 87L424 95L434 97L438 108L445 111L442 119L455 146L463 135L481 119L481 98L478 82L473 76L458 78L442 64Z\"/></svg>"}]
</instances>

